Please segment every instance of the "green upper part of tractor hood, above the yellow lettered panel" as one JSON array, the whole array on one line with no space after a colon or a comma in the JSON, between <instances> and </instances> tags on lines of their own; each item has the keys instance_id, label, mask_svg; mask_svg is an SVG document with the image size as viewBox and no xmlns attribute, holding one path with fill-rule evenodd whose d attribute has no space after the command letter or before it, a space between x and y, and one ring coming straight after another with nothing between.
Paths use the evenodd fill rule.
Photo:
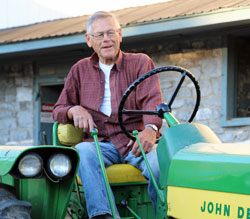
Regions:
<instances>
[{"instance_id":1,"label":"green upper part of tractor hood, above the yellow lettered panel","mask_svg":"<svg viewBox=\"0 0 250 219\"><path fill-rule=\"evenodd\" d=\"M168 185L250 194L250 145L197 143L178 151Z\"/></svg>"}]
</instances>

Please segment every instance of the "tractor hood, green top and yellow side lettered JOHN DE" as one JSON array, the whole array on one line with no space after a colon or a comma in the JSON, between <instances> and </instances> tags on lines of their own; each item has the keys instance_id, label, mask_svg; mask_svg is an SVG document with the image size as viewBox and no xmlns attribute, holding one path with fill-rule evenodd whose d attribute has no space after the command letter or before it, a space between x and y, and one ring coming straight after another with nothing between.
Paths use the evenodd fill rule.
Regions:
<instances>
[{"instance_id":1,"label":"tractor hood, green top and yellow side lettered JOHN DE","mask_svg":"<svg viewBox=\"0 0 250 219\"><path fill-rule=\"evenodd\" d=\"M250 218L250 145L196 143L179 150L167 200L174 218Z\"/></svg>"}]
</instances>

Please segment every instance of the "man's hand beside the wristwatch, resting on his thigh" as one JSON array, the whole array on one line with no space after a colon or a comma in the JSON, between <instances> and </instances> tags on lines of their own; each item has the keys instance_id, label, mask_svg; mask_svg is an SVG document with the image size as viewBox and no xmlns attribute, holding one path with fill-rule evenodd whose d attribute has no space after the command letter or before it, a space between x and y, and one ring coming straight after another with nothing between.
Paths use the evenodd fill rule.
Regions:
<instances>
[{"instance_id":1,"label":"man's hand beside the wristwatch, resting on his thigh","mask_svg":"<svg viewBox=\"0 0 250 219\"><path fill-rule=\"evenodd\" d=\"M145 153L150 152L156 141L156 132L151 127L146 127L143 131L139 132L138 137L144 152ZM134 142L130 140L127 147L132 146L133 143ZM132 154L134 154L135 157L139 157L141 155L141 150L137 141L135 141L133 145Z\"/></svg>"}]
</instances>

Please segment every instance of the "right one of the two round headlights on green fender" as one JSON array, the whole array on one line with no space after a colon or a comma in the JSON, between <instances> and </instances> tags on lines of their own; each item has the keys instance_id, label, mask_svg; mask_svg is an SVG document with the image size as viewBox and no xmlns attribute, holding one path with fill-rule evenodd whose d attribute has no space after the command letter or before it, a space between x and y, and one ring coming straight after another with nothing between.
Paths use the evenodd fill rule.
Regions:
<instances>
[{"instance_id":1,"label":"right one of the two round headlights on green fender","mask_svg":"<svg viewBox=\"0 0 250 219\"><path fill-rule=\"evenodd\" d=\"M71 160L65 154L54 154L49 159L49 169L56 177L64 177L71 170Z\"/></svg>"}]
</instances>

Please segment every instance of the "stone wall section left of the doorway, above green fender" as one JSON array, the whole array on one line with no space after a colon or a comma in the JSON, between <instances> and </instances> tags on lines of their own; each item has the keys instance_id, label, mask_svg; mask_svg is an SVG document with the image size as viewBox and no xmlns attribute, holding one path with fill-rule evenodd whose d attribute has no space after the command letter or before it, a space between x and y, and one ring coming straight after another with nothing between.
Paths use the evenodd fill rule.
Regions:
<instances>
[{"instance_id":1,"label":"stone wall section left of the doorway, above green fender","mask_svg":"<svg viewBox=\"0 0 250 219\"><path fill-rule=\"evenodd\" d=\"M0 145L34 144L33 68L0 65Z\"/></svg>"}]
</instances>

